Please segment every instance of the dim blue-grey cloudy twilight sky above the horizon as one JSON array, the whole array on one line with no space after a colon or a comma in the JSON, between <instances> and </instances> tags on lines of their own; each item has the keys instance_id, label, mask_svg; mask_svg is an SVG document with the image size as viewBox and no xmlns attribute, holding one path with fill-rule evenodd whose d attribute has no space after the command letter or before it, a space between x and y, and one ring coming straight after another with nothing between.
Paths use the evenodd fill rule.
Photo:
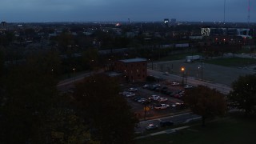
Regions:
<instances>
[{"instance_id":1,"label":"dim blue-grey cloudy twilight sky above the horizon","mask_svg":"<svg viewBox=\"0 0 256 144\"><path fill-rule=\"evenodd\" d=\"M223 22L224 0L0 0L0 21ZM226 0L226 22L247 22L248 0ZM256 22L256 1L250 0L250 22Z\"/></svg>"}]
</instances>

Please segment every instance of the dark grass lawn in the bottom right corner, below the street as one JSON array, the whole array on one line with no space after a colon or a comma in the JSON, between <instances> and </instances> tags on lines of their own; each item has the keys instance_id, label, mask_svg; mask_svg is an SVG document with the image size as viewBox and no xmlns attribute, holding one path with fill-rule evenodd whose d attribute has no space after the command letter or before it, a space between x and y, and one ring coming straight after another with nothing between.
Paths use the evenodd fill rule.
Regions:
<instances>
[{"instance_id":1,"label":"dark grass lawn in the bottom right corner, below the street","mask_svg":"<svg viewBox=\"0 0 256 144\"><path fill-rule=\"evenodd\" d=\"M206 126L191 126L175 134L160 134L136 140L137 144L243 144L256 143L256 118L227 117Z\"/></svg>"}]
</instances>

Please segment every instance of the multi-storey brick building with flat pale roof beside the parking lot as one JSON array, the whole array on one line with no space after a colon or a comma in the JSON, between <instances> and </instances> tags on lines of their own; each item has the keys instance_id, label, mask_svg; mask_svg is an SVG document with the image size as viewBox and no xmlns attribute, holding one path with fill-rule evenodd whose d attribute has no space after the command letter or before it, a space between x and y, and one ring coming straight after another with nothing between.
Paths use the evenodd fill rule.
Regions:
<instances>
[{"instance_id":1,"label":"multi-storey brick building with flat pale roof beside the parking lot","mask_svg":"<svg viewBox=\"0 0 256 144\"><path fill-rule=\"evenodd\" d=\"M146 66L146 58L131 58L115 62L114 70L121 72L128 82L146 81Z\"/></svg>"}]
</instances>

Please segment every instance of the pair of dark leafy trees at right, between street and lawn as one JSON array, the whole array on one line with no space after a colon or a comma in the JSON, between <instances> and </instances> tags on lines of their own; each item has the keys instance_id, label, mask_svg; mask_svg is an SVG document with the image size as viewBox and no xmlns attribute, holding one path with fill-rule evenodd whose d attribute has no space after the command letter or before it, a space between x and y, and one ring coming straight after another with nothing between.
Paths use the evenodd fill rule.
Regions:
<instances>
[{"instance_id":1,"label":"pair of dark leafy trees at right, between street and lawn","mask_svg":"<svg viewBox=\"0 0 256 144\"><path fill-rule=\"evenodd\" d=\"M256 113L256 75L240 76L232 83L233 90L224 95L207 86L187 90L184 101L190 109L202 116L202 126L206 118L223 116L228 108L243 110L246 116Z\"/></svg>"}]
</instances>

